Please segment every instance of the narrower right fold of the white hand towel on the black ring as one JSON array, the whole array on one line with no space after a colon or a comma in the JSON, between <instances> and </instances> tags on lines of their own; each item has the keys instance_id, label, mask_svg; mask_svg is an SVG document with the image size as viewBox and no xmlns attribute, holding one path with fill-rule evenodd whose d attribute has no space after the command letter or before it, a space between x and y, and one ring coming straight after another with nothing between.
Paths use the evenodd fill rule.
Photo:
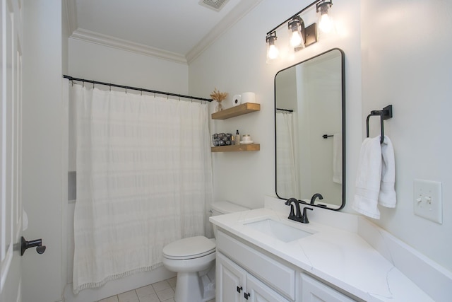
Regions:
<instances>
[{"instance_id":1,"label":"narrower right fold of the white hand towel on the black ring","mask_svg":"<svg viewBox=\"0 0 452 302\"><path fill-rule=\"evenodd\" d=\"M381 183L379 204L383 207L396 207L396 190L394 183L396 182L396 161L394 159L394 149L391 139L384 136L383 144L381 144Z\"/></svg>"}]
</instances>

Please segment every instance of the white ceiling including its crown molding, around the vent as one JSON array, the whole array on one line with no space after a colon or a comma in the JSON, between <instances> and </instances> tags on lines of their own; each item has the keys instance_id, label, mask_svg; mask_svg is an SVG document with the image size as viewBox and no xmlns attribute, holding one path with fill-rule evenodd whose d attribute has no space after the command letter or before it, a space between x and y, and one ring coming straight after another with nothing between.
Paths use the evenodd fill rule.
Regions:
<instances>
[{"instance_id":1,"label":"white ceiling including its crown molding, around the vent","mask_svg":"<svg viewBox=\"0 0 452 302\"><path fill-rule=\"evenodd\" d=\"M71 37L187 63L261 0L67 0Z\"/></svg>"}]
</instances>

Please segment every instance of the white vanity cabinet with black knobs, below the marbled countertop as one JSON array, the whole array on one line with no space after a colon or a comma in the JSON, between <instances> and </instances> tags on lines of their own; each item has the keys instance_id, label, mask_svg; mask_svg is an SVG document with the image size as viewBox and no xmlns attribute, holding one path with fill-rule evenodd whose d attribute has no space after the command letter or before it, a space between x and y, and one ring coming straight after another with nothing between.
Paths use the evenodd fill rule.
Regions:
<instances>
[{"instance_id":1,"label":"white vanity cabinet with black knobs, below the marbled countertop","mask_svg":"<svg viewBox=\"0 0 452 302\"><path fill-rule=\"evenodd\" d=\"M352 302L299 267L218 230L216 302Z\"/></svg>"}]
</instances>

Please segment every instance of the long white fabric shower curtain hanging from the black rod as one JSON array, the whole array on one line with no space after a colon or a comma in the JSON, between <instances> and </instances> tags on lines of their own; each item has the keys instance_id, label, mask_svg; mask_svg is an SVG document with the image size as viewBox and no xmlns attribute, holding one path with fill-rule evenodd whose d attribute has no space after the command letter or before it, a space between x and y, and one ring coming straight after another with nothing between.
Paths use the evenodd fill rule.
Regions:
<instances>
[{"instance_id":1,"label":"long white fabric shower curtain hanging from the black rod","mask_svg":"<svg viewBox=\"0 0 452 302\"><path fill-rule=\"evenodd\" d=\"M213 185L206 104L71 89L76 294L155 269L167 243L205 234Z\"/></svg>"}]
</instances>

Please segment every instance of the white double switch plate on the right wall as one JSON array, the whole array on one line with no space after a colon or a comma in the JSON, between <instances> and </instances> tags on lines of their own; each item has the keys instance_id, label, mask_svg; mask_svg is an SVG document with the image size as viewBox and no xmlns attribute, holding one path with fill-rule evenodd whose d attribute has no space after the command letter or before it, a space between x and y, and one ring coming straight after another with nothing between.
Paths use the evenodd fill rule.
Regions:
<instances>
[{"instance_id":1,"label":"white double switch plate on the right wall","mask_svg":"<svg viewBox=\"0 0 452 302\"><path fill-rule=\"evenodd\" d=\"M441 182L415 180L414 187L415 214L442 224L443 200L441 196Z\"/></svg>"}]
</instances>

